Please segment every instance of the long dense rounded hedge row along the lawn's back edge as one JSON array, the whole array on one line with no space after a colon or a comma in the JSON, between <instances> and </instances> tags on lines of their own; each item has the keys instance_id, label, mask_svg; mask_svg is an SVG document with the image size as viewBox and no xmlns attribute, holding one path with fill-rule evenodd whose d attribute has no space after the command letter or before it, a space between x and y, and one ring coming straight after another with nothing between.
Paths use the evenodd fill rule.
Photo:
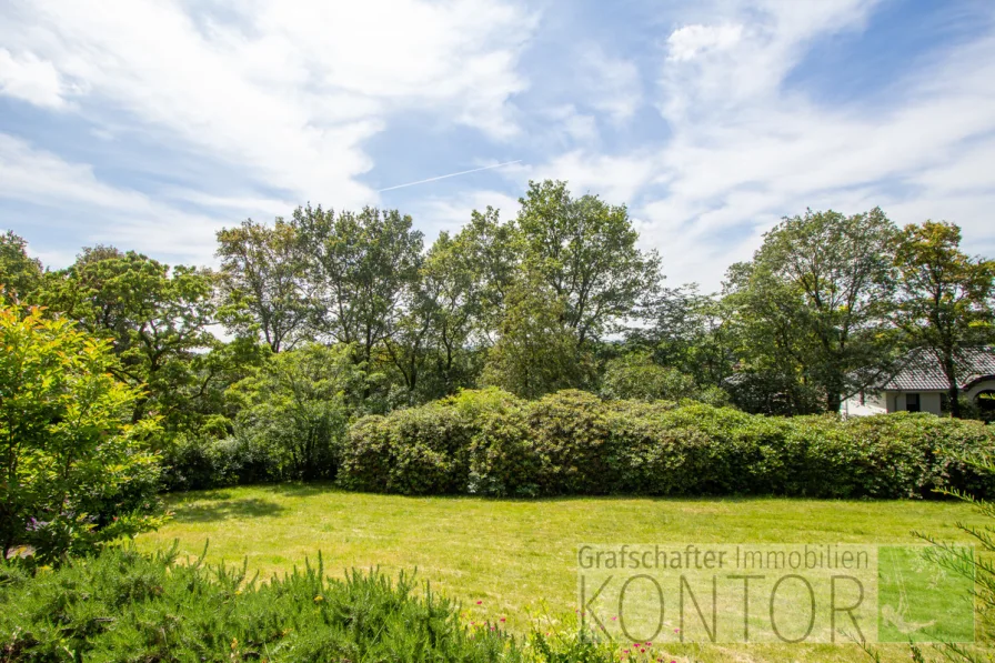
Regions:
<instances>
[{"instance_id":1,"label":"long dense rounded hedge row along the lawn's back edge","mask_svg":"<svg viewBox=\"0 0 995 663\"><path fill-rule=\"evenodd\" d=\"M345 488L401 494L992 494L995 429L929 414L764 418L703 403L466 391L356 422Z\"/></svg>"}]
</instances>

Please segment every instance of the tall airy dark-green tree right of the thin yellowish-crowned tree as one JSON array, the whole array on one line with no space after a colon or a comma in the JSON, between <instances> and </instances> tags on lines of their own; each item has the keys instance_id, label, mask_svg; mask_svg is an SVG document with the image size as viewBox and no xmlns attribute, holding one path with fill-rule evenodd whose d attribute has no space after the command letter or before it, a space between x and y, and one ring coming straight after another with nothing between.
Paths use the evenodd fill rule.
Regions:
<instances>
[{"instance_id":1,"label":"tall airy dark-green tree right of the thin yellowish-crowned tree","mask_svg":"<svg viewBox=\"0 0 995 663\"><path fill-rule=\"evenodd\" d=\"M353 344L356 361L396 328L402 299L416 279L422 233L396 210L359 213L298 208L293 222L311 253L315 327L329 340Z\"/></svg>"}]
</instances>

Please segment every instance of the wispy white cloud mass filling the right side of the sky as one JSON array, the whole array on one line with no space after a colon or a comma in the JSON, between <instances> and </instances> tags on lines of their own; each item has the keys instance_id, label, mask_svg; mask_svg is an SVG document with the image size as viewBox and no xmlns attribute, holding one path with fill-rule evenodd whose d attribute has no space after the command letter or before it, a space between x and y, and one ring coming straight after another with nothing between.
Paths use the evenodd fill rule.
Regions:
<instances>
[{"instance_id":1,"label":"wispy white cloud mass filling the right side of the sky","mask_svg":"<svg viewBox=\"0 0 995 663\"><path fill-rule=\"evenodd\" d=\"M571 151L534 171L634 201L671 282L710 290L777 219L805 207L881 205L899 223L946 218L964 227L968 251L995 247L995 36L893 81L887 106L826 104L785 88L814 39L863 29L873 4L705 6L714 22L675 29L661 58L672 134L659 150Z\"/></svg>"}]
</instances>

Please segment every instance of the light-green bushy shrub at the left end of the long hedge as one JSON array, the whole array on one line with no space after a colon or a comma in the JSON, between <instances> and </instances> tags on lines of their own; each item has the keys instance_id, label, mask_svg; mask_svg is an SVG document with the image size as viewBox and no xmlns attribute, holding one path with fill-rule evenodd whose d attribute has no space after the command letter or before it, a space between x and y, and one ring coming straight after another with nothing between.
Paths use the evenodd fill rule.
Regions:
<instances>
[{"instance_id":1,"label":"light-green bushy shrub at the left end of the long hedge","mask_svg":"<svg viewBox=\"0 0 995 663\"><path fill-rule=\"evenodd\" d=\"M312 343L273 354L230 390L239 403L235 435L269 449L284 479L334 476L362 385L348 345Z\"/></svg>"}]
</instances>

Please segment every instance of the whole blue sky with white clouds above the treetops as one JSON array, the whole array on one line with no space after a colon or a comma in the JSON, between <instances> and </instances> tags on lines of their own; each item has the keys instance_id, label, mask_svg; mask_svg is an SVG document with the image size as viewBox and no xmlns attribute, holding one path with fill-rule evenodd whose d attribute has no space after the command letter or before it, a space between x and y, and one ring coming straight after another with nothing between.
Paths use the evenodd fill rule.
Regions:
<instances>
[{"instance_id":1,"label":"whole blue sky with white clouds above the treetops","mask_svg":"<svg viewBox=\"0 0 995 663\"><path fill-rule=\"evenodd\" d=\"M706 292L806 208L995 255L995 2L0 0L0 229L52 268L306 202L431 240L546 178Z\"/></svg>"}]
</instances>

